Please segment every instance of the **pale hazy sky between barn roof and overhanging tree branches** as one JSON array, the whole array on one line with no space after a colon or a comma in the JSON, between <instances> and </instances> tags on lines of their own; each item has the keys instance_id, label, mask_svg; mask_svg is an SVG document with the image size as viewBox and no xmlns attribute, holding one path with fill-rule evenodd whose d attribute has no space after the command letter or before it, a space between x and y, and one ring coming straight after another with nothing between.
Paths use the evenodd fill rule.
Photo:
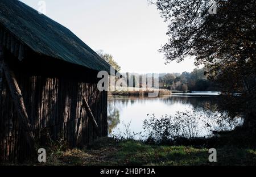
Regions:
<instances>
[{"instance_id":1,"label":"pale hazy sky between barn roof and overhanging tree branches","mask_svg":"<svg viewBox=\"0 0 256 177\"><path fill-rule=\"evenodd\" d=\"M36 0L21 0L38 10ZM167 41L167 24L147 0L46 0L46 15L71 29L93 50L112 54L121 71L181 73L193 60L164 64L158 52Z\"/></svg>"}]
</instances>

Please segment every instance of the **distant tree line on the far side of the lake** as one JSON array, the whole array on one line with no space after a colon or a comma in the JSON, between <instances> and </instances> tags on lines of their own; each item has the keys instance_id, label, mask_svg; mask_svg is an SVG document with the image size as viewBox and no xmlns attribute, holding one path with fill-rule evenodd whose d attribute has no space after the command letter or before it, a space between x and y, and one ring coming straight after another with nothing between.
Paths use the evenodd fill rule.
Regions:
<instances>
[{"instance_id":1,"label":"distant tree line on the far side of the lake","mask_svg":"<svg viewBox=\"0 0 256 177\"><path fill-rule=\"evenodd\" d=\"M103 50L98 51L98 54L106 62L108 62L117 71L121 70L121 66L114 61L113 56L104 53ZM194 69L191 73L184 71L183 73L160 73L159 75L159 88L165 88L175 91L217 91L218 87L213 81L207 77L207 68ZM123 79L126 80L126 86L143 87L148 86L147 81L142 83L142 77L152 75L155 73L138 74L138 73L122 73ZM154 86L154 79L152 79ZM130 83L130 85L129 85Z\"/></svg>"}]
</instances>

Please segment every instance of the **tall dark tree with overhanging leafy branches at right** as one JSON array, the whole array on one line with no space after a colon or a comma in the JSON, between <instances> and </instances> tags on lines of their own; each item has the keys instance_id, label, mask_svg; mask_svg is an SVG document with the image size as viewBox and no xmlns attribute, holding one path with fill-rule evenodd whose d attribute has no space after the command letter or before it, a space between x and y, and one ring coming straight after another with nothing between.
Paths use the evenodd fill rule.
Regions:
<instances>
[{"instance_id":1,"label":"tall dark tree with overhanging leafy branches at right","mask_svg":"<svg viewBox=\"0 0 256 177\"><path fill-rule=\"evenodd\" d=\"M168 43L160 52L166 62L195 57L208 76L228 95L226 105L246 111L256 119L256 58L254 0L216 0L217 14L209 0L156 0L169 24ZM241 96L235 96L237 93ZM234 102L236 100L236 102Z\"/></svg>"}]
</instances>

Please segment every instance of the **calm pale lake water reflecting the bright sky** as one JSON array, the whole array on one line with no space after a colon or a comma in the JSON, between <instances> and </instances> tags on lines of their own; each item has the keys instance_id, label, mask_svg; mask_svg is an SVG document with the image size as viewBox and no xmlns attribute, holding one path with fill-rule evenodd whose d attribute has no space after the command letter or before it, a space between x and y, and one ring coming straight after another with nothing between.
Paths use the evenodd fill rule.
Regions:
<instances>
[{"instance_id":1,"label":"calm pale lake water reflecting the bright sky","mask_svg":"<svg viewBox=\"0 0 256 177\"><path fill-rule=\"evenodd\" d=\"M109 136L126 132L130 123L130 132L142 132L143 120L154 114L155 117L175 115L177 111L192 111L203 115L203 120L198 120L199 136L209 136L211 130L228 130L242 124L242 119L237 117L233 121L219 121L216 115L218 92L192 92L188 94L174 94L160 98L139 98L135 96L109 96L108 98L108 123ZM221 123L220 123L221 122ZM210 126L206 126L210 125ZM138 137L137 137L138 138ZM141 137L140 137L141 138Z\"/></svg>"}]
</instances>

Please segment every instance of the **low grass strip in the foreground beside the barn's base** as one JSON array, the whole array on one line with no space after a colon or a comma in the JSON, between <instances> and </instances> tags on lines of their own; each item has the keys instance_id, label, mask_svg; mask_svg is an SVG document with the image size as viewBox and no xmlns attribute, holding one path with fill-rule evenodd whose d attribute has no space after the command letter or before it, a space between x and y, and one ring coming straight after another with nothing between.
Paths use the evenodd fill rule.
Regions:
<instances>
[{"instance_id":1,"label":"low grass strip in the foreground beside the barn's base","mask_svg":"<svg viewBox=\"0 0 256 177\"><path fill-rule=\"evenodd\" d=\"M52 153L44 165L256 165L256 150L217 147L217 162L208 161L208 149L192 146L149 145L129 140L100 138L88 150Z\"/></svg>"}]
</instances>

